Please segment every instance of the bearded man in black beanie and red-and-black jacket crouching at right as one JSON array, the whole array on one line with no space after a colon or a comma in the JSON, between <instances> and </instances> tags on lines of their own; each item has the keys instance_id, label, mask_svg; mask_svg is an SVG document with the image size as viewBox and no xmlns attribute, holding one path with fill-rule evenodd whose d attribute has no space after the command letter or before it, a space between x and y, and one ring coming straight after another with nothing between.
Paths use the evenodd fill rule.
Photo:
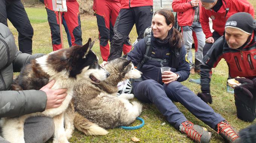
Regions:
<instances>
[{"instance_id":1,"label":"bearded man in black beanie and red-and-black jacket crouching at right","mask_svg":"<svg viewBox=\"0 0 256 143\"><path fill-rule=\"evenodd\" d=\"M212 67L224 58L229 74L240 83L235 87L237 116L244 121L256 118L256 26L253 17L246 12L235 13L227 19L225 36L220 37L204 55L201 66L201 91L198 96L212 103L210 77ZM245 78L237 78L245 77Z\"/></svg>"}]
</instances>

